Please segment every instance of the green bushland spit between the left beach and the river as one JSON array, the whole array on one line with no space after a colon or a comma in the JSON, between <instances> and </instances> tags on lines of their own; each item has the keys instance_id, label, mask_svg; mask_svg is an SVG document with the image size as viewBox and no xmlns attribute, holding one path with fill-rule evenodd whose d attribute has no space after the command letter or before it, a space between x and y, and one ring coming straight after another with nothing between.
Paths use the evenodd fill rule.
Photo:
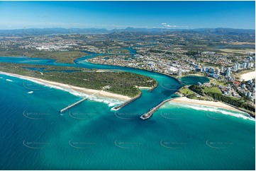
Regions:
<instances>
[{"instance_id":1,"label":"green bushland spit between the left beach and the river","mask_svg":"<svg viewBox=\"0 0 256 171\"><path fill-rule=\"evenodd\" d=\"M42 75L39 71L31 71L29 69L25 69L25 67L45 68L46 71L50 70L51 72L43 72ZM63 72L63 70L81 71L75 71L70 73ZM140 93L139 88L135 88L135 86L152 87L157 83L154 79L148 76L141 76L136 73L110 71L96 72L94 70L63 66L31 66L28 64L0 63L0 71L17 73L23 76L42 78L48 81L56 81L72 86L91 88L96 90L101 90L105 86L110 86L110 88L106 89L106 91L121 95L127 95L129 97L134 97L135 95L138 95L138 93Z\"/></svg>"}]
</instances>

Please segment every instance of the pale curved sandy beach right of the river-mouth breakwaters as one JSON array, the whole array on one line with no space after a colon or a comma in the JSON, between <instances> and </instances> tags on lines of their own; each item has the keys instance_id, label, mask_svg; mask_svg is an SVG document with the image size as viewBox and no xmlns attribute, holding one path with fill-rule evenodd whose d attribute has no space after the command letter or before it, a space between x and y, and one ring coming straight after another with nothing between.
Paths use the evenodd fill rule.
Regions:
<instances>
[{"instance_id":1,"label":"pale curved sandy beach right of the river-mouth breakwaters","mask_svg":"<svg viewBox=\"0 0 256 171\"><path fill-rule=\"evenodd\" d=\"M186 104L186 105L204 105L204 106L211 106L211 107L219 107L219 108L223 108L226 110L234 110L237 112L241 112L240 110L237 110L234 107L230 107L229 105L226 105L222 102L194 100L194 99L189 99L186 97L176 98L176 99L171 100L170 102L177 102L177 103L182 103L182 104Z\"/></svg>"}]
</instances>

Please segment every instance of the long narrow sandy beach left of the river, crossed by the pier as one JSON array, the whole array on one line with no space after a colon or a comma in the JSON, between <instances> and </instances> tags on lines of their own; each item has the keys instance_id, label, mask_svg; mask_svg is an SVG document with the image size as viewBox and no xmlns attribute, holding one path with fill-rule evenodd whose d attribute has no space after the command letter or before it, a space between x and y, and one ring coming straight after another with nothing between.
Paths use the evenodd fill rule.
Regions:
<instances>
[{"instance_id":1,"label":"long narrow sandy beach left of the river, crossed by the pier","mask_svg":"<svg viewBox=\"0 0 256 171\"><path fill-rule=\"evenodd\" d=\"M77 92L80 92L80 93L84 93L84 94L87 94L87 95L91 95L91 94L94 94L94 93L100 91L99 93L96 94L97 96L104 97L104 98L113 98L113 99L117 99L117 100L121 100L121 101L126 101L126 100L131 99L126 95L118 95L118 94L115 94L115 93L109 93L109 92L101 91L101 90L80 88L80 87L76 87L76 86L70 86L70 85L64 84L64 83L57 83L57 82L54 82L54 81L46 81L46 80L43 80L43 79L40 79L40 78L33 78L33 77L30 77L30 76L21 76L21 75L15 74L15 73L6 73L6 72L1 72L1 71L0 71L0 73L3 73L3 74L8 75L8 76L14 76L14 77L17 77L17 78L22 78L22 79L29 80L29 81L34 81L35 83L43 83L43 84L46 84L46 85L49 85L49 86L58 86L60 88L68 88L68 89L71 89L71 90L74 90L74 91L77 91Z\"/></svg>"}]
</instances>

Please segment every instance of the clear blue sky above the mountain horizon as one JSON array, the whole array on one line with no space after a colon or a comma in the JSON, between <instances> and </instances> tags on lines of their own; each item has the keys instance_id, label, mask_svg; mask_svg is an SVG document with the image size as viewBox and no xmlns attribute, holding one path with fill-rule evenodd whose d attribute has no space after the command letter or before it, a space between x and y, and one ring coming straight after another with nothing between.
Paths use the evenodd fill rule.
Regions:
<instances>
[{"instance_id":1,"label":"clear blue sky above the mountain horizon","mask_svg":"<svg viewBox=\"0 0 256 171\"><path fill-rule=\"evenodd\" d=\"M255 29L255 1L0 1L0 29Z\"/></svg>"}]
</instances>

